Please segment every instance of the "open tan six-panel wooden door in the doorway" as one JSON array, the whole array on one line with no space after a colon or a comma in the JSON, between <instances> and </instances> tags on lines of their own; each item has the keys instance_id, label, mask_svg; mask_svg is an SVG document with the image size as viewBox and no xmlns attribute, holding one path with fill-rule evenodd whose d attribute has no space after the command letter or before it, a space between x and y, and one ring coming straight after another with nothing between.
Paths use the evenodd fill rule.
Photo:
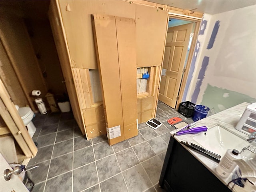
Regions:
<instances>
[{"instance_id":1,"label":"open tan six-panel wooden door in the doorway","mask_svg":"<svg viewBox=\"0 0 256 192\"><path fill-rule=\"evenodd\" d=\"M193 23L168 28L159 100L175 108Z\"/></svg>"}]
</instances>

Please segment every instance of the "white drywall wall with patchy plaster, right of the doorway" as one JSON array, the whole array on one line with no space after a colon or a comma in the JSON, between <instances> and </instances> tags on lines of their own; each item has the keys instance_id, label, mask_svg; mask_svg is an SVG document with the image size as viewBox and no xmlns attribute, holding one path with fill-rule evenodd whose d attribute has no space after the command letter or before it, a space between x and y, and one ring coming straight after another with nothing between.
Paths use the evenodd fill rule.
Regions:
<instances>
[{"instance_id":1,"label":"white drywall wall with patchy plaster, right of the doorway","mask_svg":"<svg viewBox=\"0 0 256 192\"><path fill-rule=\"evenodd\" d=\"M256 98L256 5L212 15L207 24L205 42L190 83L187 100L191 100L204 56L208 68L200 86L199 104L208 84ZM214 45L206 49L216 21L220 27Z\"/></svg>"}]
</instances>

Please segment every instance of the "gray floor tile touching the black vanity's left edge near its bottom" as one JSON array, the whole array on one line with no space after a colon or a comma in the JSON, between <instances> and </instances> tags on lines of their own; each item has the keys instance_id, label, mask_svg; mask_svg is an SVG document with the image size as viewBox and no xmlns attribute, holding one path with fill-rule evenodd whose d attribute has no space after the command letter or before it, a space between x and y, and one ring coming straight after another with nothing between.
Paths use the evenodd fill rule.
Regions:
<instances>
[{"instance_id":1,"label":"gray floor tile touching the black vanity's left edge near its bottom","mask_svg":"<svg viewBox=\"0 0 256 192\"><path fill-rule=\"evenodd\" d=\"M142 162L142 166L148 174L151 182L153 184L157 184L163 166L163 162L160 160L160 158L158 156L154 156L153 158Z\"/></svg>"}]
</instances>

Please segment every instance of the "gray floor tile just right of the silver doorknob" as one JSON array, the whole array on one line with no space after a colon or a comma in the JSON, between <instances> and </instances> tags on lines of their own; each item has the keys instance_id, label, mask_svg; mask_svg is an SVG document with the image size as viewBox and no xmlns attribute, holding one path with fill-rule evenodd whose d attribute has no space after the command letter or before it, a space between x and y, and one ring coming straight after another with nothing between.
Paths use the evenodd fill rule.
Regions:
<instances>
[{"instance_id":1,"label":"gray floor tile just right of the silver doorknob","mask_svg":"<svg viewBox=\"0 0 256 192\"><path fill-rule=\"evenodd\" d=\"M49 164L50 164L50 160L39 163L39 164L37 164L38 165L37 168L34 168L27 172L29 178L34 182L34 184L40 183L40 182L46 180ZM31 167L33 167L33 166L28 166L27 169L29 169Z\"/></svg>"}]
</instances>

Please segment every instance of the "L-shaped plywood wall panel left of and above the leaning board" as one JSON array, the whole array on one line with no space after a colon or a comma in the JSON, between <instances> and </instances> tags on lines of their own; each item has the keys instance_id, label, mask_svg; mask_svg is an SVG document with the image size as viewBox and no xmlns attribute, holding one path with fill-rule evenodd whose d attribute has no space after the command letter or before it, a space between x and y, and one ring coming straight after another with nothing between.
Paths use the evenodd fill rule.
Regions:
<instances>
[{"instance_id":1,"label":"L-shaped plywood wall panel left of and above the leaning board","mask_svg":"<svg viewBox=\"0 0 256 192\"><path fill-rule=\"evenodd\" d=\"M67 35L72 65L78 68L96 69L91 14L114 15L135 18L135 4L115 0L86 0L58 2ZM70 11L66 10L69 6Z\"/></svg>"}]
</instances>

